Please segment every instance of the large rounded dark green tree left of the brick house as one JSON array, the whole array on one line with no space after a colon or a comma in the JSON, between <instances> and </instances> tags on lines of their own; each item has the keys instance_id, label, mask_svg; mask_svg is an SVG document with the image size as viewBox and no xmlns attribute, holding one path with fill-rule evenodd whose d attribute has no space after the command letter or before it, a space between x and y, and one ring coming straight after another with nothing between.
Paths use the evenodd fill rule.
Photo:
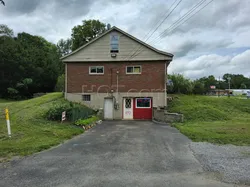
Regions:
<instances>
[{"instance_id":1,"label":"large rounded dark green tree left of the brick house","mask_svg":"<svg viewBox=\"0 0 250 187\"><path fill-rule=\"evenodd\" d=\"M63 70L56 45L28 33L19 33L17 41L22 46L19 63L25 67L25 75L33 80L31 92L53 91L57 77Z\"/></svg>"}]
</instances>

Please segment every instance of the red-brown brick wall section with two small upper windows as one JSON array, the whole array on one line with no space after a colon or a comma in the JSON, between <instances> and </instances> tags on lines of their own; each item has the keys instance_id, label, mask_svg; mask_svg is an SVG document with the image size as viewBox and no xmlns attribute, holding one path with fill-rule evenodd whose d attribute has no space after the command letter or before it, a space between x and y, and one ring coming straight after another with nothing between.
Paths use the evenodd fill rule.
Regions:
<instances>
[{"instance_id":1,"label":"red-brown brick wall section with two small upper windows","mask_svg":"<svg viewBox=\"0 0 250 187\"><path fill-rule=\"evenodd\" d=\"M119 92L164 92L165 61L68 63L67 92L110 92L116 90L119 71ZM141 74L126 74L126 66L141 65ZM89 66L104 66L103 75L90 75Z\"/></svg>"}]
</instances>

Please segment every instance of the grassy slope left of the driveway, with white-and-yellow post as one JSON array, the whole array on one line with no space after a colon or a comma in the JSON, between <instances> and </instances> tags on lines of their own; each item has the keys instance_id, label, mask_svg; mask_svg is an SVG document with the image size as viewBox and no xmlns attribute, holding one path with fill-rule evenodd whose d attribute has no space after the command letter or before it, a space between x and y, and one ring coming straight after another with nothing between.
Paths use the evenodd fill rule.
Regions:
<instances>
[{"instance_id":1,"label":"grassy slope left of the driveway, with white-and-yellow post","mask_svg":"<svg viewBox=\"0 0 250 187\"><path fill-rule=\"evenodd\" d=\"M18 102L0 100L0 158L29 155L82 133L82 129L70 124L43 118L43 114L59 102L67 102L62 93ZM9 108L11 138L7 136L5 107Z\"/></svg>"}]
</instances>

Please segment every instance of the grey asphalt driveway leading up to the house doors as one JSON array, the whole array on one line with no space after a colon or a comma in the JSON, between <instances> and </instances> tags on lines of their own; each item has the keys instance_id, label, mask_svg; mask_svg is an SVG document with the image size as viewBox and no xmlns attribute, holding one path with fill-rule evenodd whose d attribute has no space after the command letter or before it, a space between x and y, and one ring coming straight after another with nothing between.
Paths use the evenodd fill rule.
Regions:
<instances>
[{"instance_id":1,"label":"grey asphalt driveway leading up to the house doors","mask_svg":"<svg viewBox=\"0 0 250 187\"><path fill-rule=\"evenodd\" d=\"M233 187L204 173L176 129L106 121L65 144L0 165L0 186Z\"/></svg>"}]
</instances>

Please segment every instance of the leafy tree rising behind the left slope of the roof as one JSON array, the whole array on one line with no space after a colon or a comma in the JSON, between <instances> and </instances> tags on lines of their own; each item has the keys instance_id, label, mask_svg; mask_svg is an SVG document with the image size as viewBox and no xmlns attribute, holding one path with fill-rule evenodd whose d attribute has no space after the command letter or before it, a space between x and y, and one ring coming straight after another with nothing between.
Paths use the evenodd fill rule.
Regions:
<instances>
[{"instance_id":1,"label":"leafy tree rising behind the left slope of the roof","mask_svg":"<svg viewBox=\"0 0 250 187\"><path fill-rule=\"evenodd\" d=\"M84 20L82 25L77 25L72 29L72 51L88 43L106 30L106 25L99 20Z\"/></svg>"}]
</instances>

